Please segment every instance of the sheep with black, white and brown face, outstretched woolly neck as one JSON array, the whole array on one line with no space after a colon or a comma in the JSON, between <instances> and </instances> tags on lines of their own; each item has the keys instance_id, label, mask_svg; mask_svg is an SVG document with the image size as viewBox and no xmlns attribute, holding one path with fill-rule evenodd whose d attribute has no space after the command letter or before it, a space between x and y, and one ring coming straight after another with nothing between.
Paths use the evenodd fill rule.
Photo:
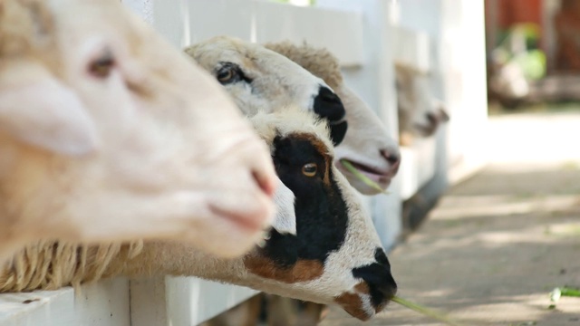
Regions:
<instances>
[{"instance_id":1,"label":"sheep with black, white and brown face, outstretched woolly neck","mask_svg":"<svg viewBox=\"0 0 580 326\"><path fill-rule=\"evenodd\" d=\"M0 292L54 289L115 275L193 275L339 304L361 320L382 311L397 285L371 219L333 166L326 124L298 108L257 113L251 121L271 150L278 177L295 195L295 234L271 229L264 245L232 259L179 242L44 242L0 270Z\"/></svg>"}]
</instances>

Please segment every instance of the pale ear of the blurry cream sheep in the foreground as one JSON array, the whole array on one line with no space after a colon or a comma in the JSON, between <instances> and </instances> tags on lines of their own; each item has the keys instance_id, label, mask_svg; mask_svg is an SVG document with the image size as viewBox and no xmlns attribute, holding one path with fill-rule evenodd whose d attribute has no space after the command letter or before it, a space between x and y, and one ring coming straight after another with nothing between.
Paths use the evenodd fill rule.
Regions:
<instances>
[{"instance_id":1,"label":"pale ear of the blurry cream sheep in the foreground","mask_svg":"<svg viewBox=\"0 0 580 326\"><path fill-rule=\"evenodd\" d=\"M0 132L55 153L81 156L97 147L97 130L79 98L39 64L0 72Z\"/></svg>"}]
</instances>

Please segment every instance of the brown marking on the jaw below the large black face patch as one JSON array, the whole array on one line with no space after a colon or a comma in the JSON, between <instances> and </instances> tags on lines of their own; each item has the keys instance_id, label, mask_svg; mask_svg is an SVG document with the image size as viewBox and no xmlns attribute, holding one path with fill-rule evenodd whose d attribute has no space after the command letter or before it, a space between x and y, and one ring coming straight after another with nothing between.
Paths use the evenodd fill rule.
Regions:
<instances>
[{"instance_id":1,"label":"brown marking on the jaw below the large black face patch","mask_svg":"<svg viewBox=\"0 0 580 326\"><path fill-rule=\"evenodd\" d=\"M324 264L317 260L302 259L292 267L279 267L271 259L250 254L244 257L244 265L250 273L283 283L312 281L324 273Z\"/></svg>"}]
</instances>

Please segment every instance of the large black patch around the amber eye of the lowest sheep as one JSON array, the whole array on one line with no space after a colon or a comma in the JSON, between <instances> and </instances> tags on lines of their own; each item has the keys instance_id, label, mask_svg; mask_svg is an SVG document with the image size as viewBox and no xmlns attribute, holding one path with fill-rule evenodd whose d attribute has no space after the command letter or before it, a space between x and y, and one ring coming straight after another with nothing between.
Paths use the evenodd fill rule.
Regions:
<instances>
[{"instance_id":1,"label":"large black patch around the amber eye of the lowest sheep","mask_svg":"<svg viewBox=\"0 0 580 326\"><path fill-rule=\"evenodd\" d=\"M348 225L347 208L330 168L332 158L327 157L327 162L311 140L300 137L278 136L274 146L276 173L295 194L296 235L272 230L259 254L283 268L301 259L324 264L328 254L343 245ZM317 166L314 177L303 174L308 163Z\"/></svg>"}]
</instances>

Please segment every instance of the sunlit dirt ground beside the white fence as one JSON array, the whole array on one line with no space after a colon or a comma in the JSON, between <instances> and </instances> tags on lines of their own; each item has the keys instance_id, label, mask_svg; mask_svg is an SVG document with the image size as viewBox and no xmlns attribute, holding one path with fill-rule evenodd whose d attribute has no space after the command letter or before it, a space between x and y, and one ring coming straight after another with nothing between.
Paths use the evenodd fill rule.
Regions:
<instances>
[{"instance_id":1,"label":"sunlit dirt ground beside the white fence","mask_svg":"<svg viewBox=\"0 0 580 326\"><path fill-rule=\"evenodd\" d=\"M464 325L580 325L580 108L489 120L489 165L451 187L390 255L401 297ZM442 325L391 303L372 321L333 308L321 325Z\"/></svg>"}]
</instances>

